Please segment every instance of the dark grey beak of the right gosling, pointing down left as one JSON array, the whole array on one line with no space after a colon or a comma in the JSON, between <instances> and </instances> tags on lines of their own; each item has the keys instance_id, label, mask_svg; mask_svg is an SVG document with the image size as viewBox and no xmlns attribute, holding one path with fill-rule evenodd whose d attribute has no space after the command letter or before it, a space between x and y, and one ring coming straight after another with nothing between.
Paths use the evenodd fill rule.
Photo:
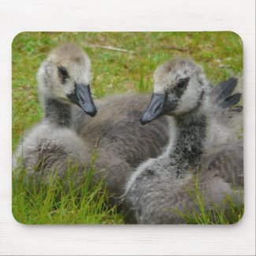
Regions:
<instances>
[{"instance_id":1,"label":"dark grey beak of the right gosling, pointing down left","mask_svg":"<svg viewBox=\"0 0 256 256\"><path fill-rule=\"evenodd\" d=\"M143 116L140 118L140 123L150 123L150 121L153 121L155 118L167 113L165 105L166 98L167 94L153 94L150 101L150 105L147 107L146 112L143 113Z\"/></svg>"}]
</instances>

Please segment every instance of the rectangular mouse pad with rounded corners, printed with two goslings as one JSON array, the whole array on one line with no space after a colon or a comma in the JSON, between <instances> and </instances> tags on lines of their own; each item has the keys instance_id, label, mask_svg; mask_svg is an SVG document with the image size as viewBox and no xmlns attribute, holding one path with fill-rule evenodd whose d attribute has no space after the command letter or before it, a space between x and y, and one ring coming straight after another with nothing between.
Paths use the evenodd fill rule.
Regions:
<instances>
[{"instance_id":1,"label":"rectangular mouse pad with rounded corners, printed with two goslings","mask_svg":"<svg viewBox=\"0 0 256 256\"><path fill-rule=\"evenodd\" d=\"M18 222L243 217L239 35L22 32L12 47Z\"/></svg>"}]
</instances>

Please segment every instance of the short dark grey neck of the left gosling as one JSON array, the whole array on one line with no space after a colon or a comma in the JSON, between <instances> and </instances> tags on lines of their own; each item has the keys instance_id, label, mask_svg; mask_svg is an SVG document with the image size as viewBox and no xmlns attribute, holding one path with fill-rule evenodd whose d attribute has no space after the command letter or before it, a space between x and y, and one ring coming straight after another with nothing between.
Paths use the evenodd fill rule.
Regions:
<instances>
[{"instance_id":1,"label":"short dark grey neck of the left gosling","mask_svg":"<svg viewBox=\"0 0 256 256\"><path fill-rule=\"evenodd\" d=\"M55 98L44 99L45 119L51 124L61 127L71 127L71 107L69 104L59 102Z\"/></svg>"}]
</instances>

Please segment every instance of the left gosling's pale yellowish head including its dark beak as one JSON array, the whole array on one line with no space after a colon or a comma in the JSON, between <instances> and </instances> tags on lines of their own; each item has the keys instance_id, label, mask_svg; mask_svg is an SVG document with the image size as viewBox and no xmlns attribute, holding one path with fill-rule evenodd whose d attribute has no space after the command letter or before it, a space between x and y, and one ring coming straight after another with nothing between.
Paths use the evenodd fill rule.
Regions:
<instances>
[{"instance_id":1,"label":"left gosling's pale yellowish head including its dark beak","mask_svg":"<svg viewBox=\"0 0 256 256\"><path fill-rule=\"evenodd\" d=\"M92 117L97 113L91 97L91 61L79 46L66 43L52 50L39 68L38 80L43 100L75 103Z\"/></svg>"}]
</instances>

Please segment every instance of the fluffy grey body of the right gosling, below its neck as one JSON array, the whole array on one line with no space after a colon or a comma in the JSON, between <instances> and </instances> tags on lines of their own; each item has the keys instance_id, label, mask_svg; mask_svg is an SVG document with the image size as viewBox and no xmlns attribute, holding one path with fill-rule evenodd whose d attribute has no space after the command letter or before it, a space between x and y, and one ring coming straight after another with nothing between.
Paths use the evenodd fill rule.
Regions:
<instances>
[{"instance_id":1,"label":"fluffy grey body of the right gosling, below its neck","mask_svg":"<svg viewBox=\"0 0 256 256\"><path fill-rule=\"evenodd\" d=\"M133 224L185 224L178 213L200 213L198 203L189 194L197 196L195 184L206 210L214 206L226 209L224 200L228 195L236 206L243 204L243 142L222 147L210 156L207 165L201 166L190 169L166 158L140 165L127 184L125 220ZM184 178L177 179L174 174L179 169L187 169Z\"/></svg>"}]
</instances>

